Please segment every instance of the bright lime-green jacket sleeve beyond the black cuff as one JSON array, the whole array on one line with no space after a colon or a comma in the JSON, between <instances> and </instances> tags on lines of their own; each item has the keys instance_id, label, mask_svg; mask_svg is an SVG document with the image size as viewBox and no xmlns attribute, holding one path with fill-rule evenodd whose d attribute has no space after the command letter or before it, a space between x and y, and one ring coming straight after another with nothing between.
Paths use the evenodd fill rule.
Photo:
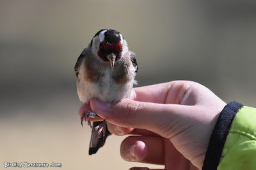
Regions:
<instances>
[{"instance_id":1,"label":"bright lime-green jacket sleeve beyond the black cuff","mask_svg":"<svg viewBox=\"0 0 256 170\"><path fill-rule=\"evenodd\" d=\"M218 166L222 169L256 169L255 108L243 106L234 117Z\"/></svg>"}]
</instances>

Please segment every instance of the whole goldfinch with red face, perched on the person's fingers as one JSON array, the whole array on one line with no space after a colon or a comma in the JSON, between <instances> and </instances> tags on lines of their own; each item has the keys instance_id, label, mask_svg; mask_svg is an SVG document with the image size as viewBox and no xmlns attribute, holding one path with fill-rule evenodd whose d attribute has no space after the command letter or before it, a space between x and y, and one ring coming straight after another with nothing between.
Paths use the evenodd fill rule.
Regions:
<instances>
[{"instance_id":1,"label":"whole goldfinch with red face, perched on the person's fingers","mask_svg":"<svg viewBox=\"0 0 256 170\"><path fill-rule=\"evenodd\" d=\"M115 103L131 94L138 65L124 36L114 29L101 29L77 59L75 72L81 102L97 98ZM91 125L90 118L95 116L97 113L84 111L81 117L82 126L83 120L87 120L92 130L89 155L96 153L111 134L105 120Z\"/></svg>"}]
</instances>

